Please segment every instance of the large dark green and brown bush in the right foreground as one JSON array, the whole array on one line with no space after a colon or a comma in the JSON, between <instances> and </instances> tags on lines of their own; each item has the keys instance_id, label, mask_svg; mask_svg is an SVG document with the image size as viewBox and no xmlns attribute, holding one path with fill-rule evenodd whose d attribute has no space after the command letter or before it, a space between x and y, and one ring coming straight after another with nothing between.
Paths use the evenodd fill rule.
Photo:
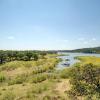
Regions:
<instances>
[{"instance_id":1,"label":"large dark green and brown bush in the right foreground","mask_svg":"<svg viewBox=\"0 0 100 100\"><path fill-rule=\"evenodd\" d=\"M93 64L74 67L71 70L72 89L69 94L75 96L95 95L100 92L100 67Z\"/></svg>"}]
</instances>

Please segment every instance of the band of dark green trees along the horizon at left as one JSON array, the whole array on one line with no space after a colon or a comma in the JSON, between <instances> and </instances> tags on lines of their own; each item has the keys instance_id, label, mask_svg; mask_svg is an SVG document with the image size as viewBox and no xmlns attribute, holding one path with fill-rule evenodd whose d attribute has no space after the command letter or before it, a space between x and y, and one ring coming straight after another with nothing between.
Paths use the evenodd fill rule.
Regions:
<instances>
[{"instance_id":1,"label":"band of dark green trees along the horizon at left","mask_svg":"<svg viewBox=\"0 0 100 100\"><path fill-rule=\"evenodd\" d=\"M47 53L56 53L53 51L13 51L13 50L0 50L0 64L10 61L37 61L39 57L44 58Z\"/></svg>"}]
</instances>

